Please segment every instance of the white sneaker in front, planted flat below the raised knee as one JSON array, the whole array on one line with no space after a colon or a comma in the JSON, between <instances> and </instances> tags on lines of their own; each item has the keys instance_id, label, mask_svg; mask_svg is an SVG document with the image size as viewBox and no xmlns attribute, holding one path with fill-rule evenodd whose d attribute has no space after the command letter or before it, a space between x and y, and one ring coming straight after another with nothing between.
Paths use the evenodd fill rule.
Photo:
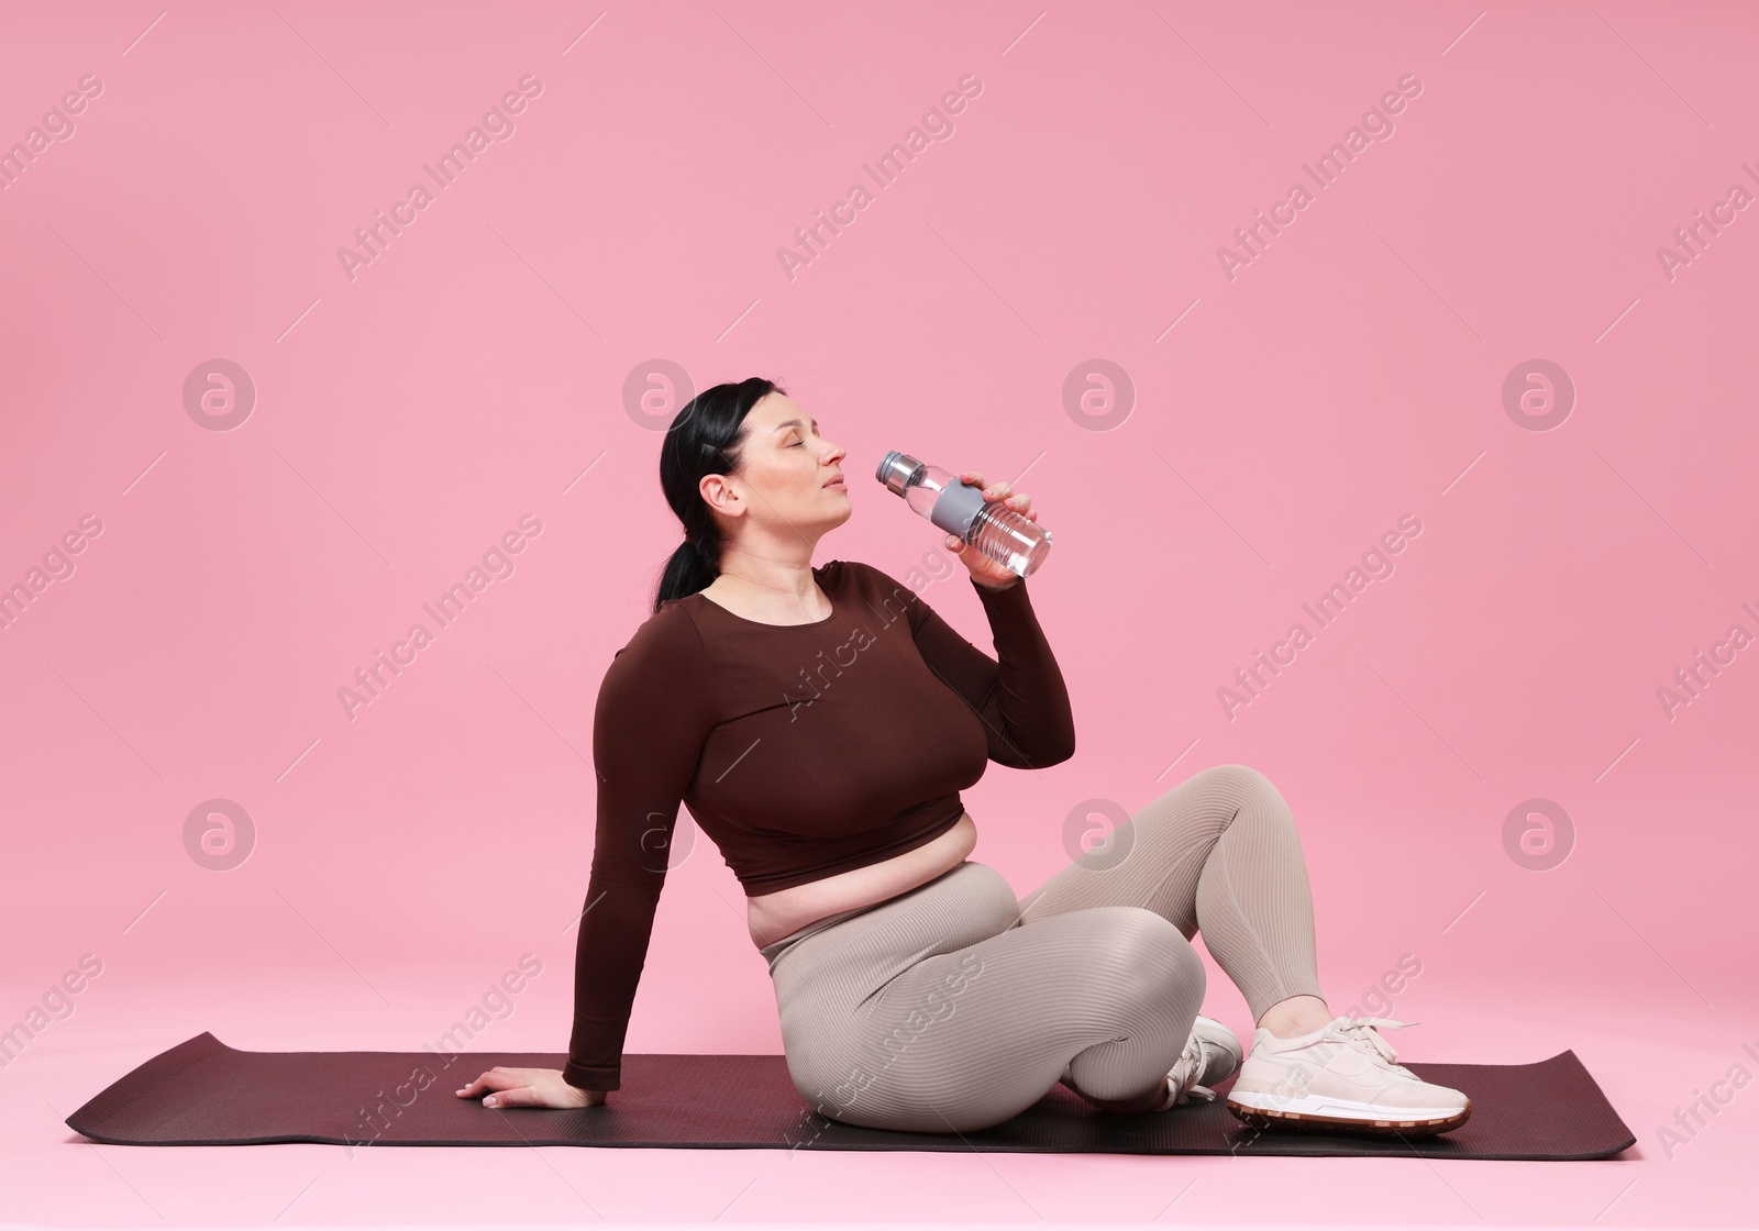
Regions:
<instances>
[{"instance_id":1,"label":"white sneaker in front, planted flat below the raised knee","mask_svg":"<svg viewBox=\"0 0 1759 1231\"><path fill-rule=\"evenodd\" d=\"M1321 1029L1279 1039L1259 1027L1228 1110L1252 1127L1358 1129L1384 1136L1430 1136L1465 1124L1472 1101L1393 1064L1398 1053L1376 1027L1384 1016L1333 1018Z\"/></svg>"}]
</instances>

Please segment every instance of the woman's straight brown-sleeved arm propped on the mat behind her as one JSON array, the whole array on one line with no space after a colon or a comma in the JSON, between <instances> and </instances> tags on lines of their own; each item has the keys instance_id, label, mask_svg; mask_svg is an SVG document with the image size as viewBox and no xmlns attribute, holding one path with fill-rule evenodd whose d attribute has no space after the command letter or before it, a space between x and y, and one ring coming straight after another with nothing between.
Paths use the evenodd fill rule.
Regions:
<instances>
[{"instance_id":1,"label":"woman's straight brown-sleeved arm propped on the mat behind her","mask_svg":"<svg viewBox=\"0 0 1759 1231\"><path fill-rule=\"evenodd\" d=\"M573 1031L559 1071L573 1090L552 1089L563 1106L593 1106L623 1085L623 1039L672 828L712 726L709 659L697 626L682 608L660 612L612 658L593 712L598 811L575 939ZM551 1106L501 1096L496 1103Z\"/></svg>"}]
</instances>

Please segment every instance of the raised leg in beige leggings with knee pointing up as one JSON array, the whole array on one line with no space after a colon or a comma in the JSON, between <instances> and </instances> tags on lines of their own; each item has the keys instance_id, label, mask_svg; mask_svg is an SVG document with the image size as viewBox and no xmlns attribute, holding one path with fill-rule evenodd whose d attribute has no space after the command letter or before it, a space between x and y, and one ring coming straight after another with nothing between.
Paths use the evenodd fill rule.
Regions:
<instances>
[{"instance_id":1,"label":"raised leg in beige leggings with knee pointing up","mask_svg":"<svg viewBox=\"0 0 1759 1231\"><path fill-rule=\"evenodd\" d=\"M1147 907L1187 941L1201 930L1252 1022L1266 1025L1268 1016L1274 1034L1302 1034L1332 1018L1319 994L1295 816L1272 781L1247 765L1201 770L1145 804L1027 893L1020 927L1094 906Z\"/></svg>"}]
</instances>

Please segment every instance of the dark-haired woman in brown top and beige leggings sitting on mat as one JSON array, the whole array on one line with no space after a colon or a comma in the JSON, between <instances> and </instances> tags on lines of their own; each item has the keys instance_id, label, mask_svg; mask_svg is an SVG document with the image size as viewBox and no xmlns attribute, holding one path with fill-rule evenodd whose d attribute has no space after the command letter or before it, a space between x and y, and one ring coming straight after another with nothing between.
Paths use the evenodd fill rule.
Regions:
<instances>
[{"instance_id":1,"label":"dark-haired woman in brown top and beige leggings sitting on mat","mask_svg":"<svg viewBox=\"0 0 1759 1231\"><path fill-rule=\"evenodd\" d=\"M684 543L598 693L568 1064L494 1067L459 1097L582 1108L621 1087L684 802L746 890L788 1073L828 1118L966 1133L1059 1082L1108 1111L1166 1111L1214 1099L1238 1067L1228 1106L1254 1125L1463 1124L1463 1094L1393 1064L1376 1025L1402 1022L1326 1008L1300 839L1263 774L1189 777L1024 900L967 858L959 791L987 761L1073 756L1062 675L1025 580L950 535L994 659L880 570L811 566L851 512L844 450L818 427L751 378L704 390L668 429L660 482ZM1038 519L1008 484L983 496ZM1198 1016L1200 927L1258 1023L1244 1062Z\"/></svg>"}]
</instances>

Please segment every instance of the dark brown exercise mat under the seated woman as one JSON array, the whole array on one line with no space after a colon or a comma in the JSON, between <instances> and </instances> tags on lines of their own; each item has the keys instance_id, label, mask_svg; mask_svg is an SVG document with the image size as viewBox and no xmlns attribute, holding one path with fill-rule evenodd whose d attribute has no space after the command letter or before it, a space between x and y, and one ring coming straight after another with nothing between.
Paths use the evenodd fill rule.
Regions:
<instances>
[{"instance_id":1,"label":"dark brown exercise mat under the seated woman","mask_svg":"<svg viewBox=\"0 0 1759 1231\"><path fill-rule=\"evenodd\" d=\"M626 1055L603 1106L482 1106L454 1094L484 1069L559 1069L556 1052L236 1052L206 1031L67 1117L109 1145L603 1145L734 1150L1293 1154L1606 1159L1636 1145L1574 1052L1537 1064L1407 1064L1465 1090L1472 1118L1428 1138L1256 1131L1215 1103L1112 1115L1055 1087L982 1133L885 1133L818 1115L779 1055Z\"/></svg>"}]
</instances>

